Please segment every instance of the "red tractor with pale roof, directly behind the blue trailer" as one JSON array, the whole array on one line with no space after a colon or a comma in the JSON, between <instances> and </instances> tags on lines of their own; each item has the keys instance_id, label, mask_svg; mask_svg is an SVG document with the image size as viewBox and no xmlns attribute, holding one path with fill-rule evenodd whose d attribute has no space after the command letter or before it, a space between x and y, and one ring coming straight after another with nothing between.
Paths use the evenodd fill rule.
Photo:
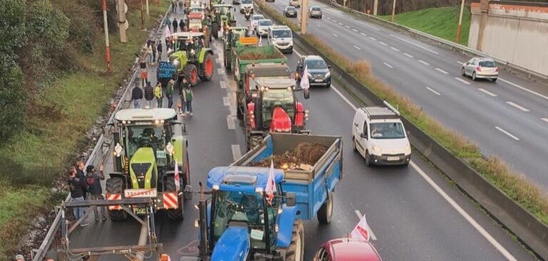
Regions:
<instances>
[{"instance_id":1,"label":"red tractor with pale roof, directly behind the blue trailer","mask_svg":"<svg viewBox=\"0 0 548 261\"><path fill-rule=\"evenodd\" d=\"M263 141L270 132L310 134L305 129L308 110L295 97L293 79L257 79L250 102L245 106L245 142L248 151ZM305 90L305 99L310 97Z\"/></svg>"}]
</instances>

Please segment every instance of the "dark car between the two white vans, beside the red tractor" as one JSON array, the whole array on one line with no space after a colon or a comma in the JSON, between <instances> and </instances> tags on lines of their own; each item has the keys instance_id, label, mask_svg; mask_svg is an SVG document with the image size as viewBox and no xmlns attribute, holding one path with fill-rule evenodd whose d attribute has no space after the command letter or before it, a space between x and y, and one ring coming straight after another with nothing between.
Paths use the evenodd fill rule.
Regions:
<instances>
[{"instance_id":1,"label":"dark car between the two white vans, beside the red tractor","mask_svg":"<svg viewBox=\"0 0 548 261\"><path fill-rule=\"evenodd\" d=\"M298 80L303 78L305 69L308 70L308 82L310 86L331 87L331 65L318 55L303 55L297 63Z\"/></svg>"}]
</instances>

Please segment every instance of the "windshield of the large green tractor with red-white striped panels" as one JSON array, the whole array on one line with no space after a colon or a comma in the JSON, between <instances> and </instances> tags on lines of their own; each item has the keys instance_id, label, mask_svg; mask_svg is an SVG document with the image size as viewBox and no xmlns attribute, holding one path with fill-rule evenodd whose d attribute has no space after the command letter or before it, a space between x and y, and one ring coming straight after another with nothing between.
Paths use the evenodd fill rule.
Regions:
<instances>
[{"instance_id":1,"label":"windshield of the large green tractor with red-white striped panels","mask_svg":"<svg viewBox=\"0 0 548 261\"><path fill-rule=\"evenodd\" d=\"M126 144L126 155L129 159L141 147L151 147L156 154L158 166L168 166L166 157L166 136L164 127L156 125L129 125L124 129L124 143Z\"/></svg>"}]
</instances>

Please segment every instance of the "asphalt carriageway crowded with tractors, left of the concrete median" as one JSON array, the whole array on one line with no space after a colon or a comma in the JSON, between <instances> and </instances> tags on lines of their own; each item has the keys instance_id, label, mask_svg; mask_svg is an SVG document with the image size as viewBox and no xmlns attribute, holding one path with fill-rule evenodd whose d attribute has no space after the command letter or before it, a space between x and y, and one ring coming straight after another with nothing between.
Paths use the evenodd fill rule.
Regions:
<instances>
[{"instance_id":1,"label":"asphalt carriageway crowded with tractors, left of the concrete median","mask_svg":"<svg viewBox=\"0 0 548 261\"><path fill-rule=\"evenodd\" d=\"M237 17L244 23L240 14ZM220 42L215 45L214 50L220 50ZM198 181L205 181L210 169L230 164L245 149L243 129L234 117L235 86L221 67L222 54L216 58L218 74L211 82L194 88L195 113L185 118L191 181L195 188ZM296 52L288 55L292 68L297 58ZM155 79L151 81L154 83ZM310 110L309 129L315 134L340 135L346 141L344 178L335 193L333 222L305 223L305 260L312 260L321 243L350 233L359 214L366 215L375 234L374 245L383 260L534 260L417 154L407 168L367 168L348 144L356 104L340 88L315 89L310 100L303 100L302 94L298 97ZM106 172L110 169L108 159ZM157 215L159 241L171 260L197 254L198 230L193 226L197 211L191 205L186 205L186 219L182 223ZM88 227L75 230L71 244L72 247L133 245L138 241L139 230L140 225L132 220L124 223L92 220ZM125 259L107 255L101 260Z\"/></svg>"}]
</instances>

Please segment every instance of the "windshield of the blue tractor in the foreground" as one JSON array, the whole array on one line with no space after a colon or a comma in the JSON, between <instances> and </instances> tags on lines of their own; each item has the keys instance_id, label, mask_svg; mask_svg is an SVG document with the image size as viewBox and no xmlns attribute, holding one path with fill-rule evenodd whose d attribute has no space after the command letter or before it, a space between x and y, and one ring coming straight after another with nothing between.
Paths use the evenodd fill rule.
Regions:
<instances>
[{"instance_id":1,"label":"windshield of the blue tractor in the foreground","mask_svg":"<svg viewBox=\"0 0 548 261\"><path fill-rule=\"evenodd\" d=\"M265 212L268 212L270 246L275 245L274 224L278 213L278 201L266 204L262 193L241 191L218 191L213 199L215 211L211 213L210 228L213 228L213 241L216 242L228 228L230 222L246 223L250 229L251 248L266 249Z\"/></svg>"}]
</instances>

